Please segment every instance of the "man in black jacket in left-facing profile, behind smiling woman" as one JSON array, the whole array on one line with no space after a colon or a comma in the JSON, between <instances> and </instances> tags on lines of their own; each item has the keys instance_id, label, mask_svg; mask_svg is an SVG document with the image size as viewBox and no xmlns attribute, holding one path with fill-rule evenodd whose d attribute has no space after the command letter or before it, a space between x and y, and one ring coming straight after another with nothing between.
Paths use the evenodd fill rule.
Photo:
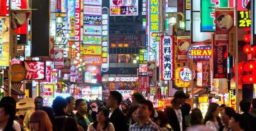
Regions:
<instances>
[{"instance_id":1,"label":"man in black jacket in left-facing profile, behind smiling woman","mask_svg":"<svg viewBox=\"0 0 256 131\"><path fill-rule=\"evenodd\" d=\"M128 131L124 113L119 109L119 104L122 102L122 94L112 90L109 93L107 107L110 108L109 122L111 122L116 131Z\"/></svg>"}]
</instances>

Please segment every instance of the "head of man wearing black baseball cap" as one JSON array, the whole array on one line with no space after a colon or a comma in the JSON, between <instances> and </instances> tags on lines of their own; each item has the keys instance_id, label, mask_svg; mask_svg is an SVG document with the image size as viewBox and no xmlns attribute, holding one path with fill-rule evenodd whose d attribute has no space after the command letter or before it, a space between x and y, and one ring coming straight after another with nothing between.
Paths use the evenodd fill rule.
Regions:
<instances>
[{"instance_id":1,"label":"head of man wearing black baseball cap","mask_svg":"<svg viewBox=\"0 0 256 131\"><path fill-rule=\"evenodd\" d=\"M174 98L172 99L172 104L181 104L183 105L186 99L189 98L188 94L185 94L183 90L177 90L174 93Z\"/></svg>"}]
</instances>

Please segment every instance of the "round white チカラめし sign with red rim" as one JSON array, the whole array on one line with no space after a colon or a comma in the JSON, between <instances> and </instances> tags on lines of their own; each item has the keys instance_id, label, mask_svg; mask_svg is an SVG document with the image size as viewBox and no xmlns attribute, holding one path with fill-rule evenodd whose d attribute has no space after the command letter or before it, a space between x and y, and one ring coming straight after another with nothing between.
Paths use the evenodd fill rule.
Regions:
<instances>
[{"instance_id":1,"label":"round white \u30c1\u30ab\u30e9\u3081\u3057 sign with red rim","mask_svg":"<svg viewBox=\"0 0 256 131\"><path fill-rule=\"evenodd\" d=\"M192 76L192 72L189 70L188 66L184 66L180 68L179 78L180 78L180 81L190 82L192 79L195 78L195 70L193 70L193 76Z\"/></svg>"}]
</instances>

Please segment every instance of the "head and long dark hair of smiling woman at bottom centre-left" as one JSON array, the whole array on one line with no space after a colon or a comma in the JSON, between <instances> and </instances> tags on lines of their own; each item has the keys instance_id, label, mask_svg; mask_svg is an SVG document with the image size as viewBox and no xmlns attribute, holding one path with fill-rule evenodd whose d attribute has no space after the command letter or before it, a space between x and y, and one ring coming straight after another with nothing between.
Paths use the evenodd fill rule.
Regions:
<instances>
[{"instance_id":1,"label":"head and long dark hair of smiling woman at bottom centre-left","mask_svg":"<svg viewBox=\"0 0 256 131\"><path fill-rule=\"evenodd\" d=\"M109 109L107 107L100 107L98 109L98 112L96 114L96 120L95 122L93 122L92 127L94 127L95 129L97 129L97 124L99 122L105 122L105 126L102 128L103 130L106 130L106 128L108 127L108 122L109 122Z\"/></svg>"}]
</instances>

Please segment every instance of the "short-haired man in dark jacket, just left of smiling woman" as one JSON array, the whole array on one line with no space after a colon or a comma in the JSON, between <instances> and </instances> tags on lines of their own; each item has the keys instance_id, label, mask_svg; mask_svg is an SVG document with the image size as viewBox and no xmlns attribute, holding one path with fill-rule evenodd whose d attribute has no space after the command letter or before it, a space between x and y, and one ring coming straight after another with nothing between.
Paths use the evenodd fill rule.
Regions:
<instances>
[{"instance_id":1,"label":"short-haired man in dark jacket, just left of smiling woman","mask_svg":"<svg viewBox=\"0 0 256 131\"><path fill-rule=\"evenodd\" d=\"M77 123L79 126L83 127L84 131L87 131L87 128L93 122L92 117L89 113L87 113L87 105L84 99L76 100L76 117Z\"/></svg>"}]
</instances>

